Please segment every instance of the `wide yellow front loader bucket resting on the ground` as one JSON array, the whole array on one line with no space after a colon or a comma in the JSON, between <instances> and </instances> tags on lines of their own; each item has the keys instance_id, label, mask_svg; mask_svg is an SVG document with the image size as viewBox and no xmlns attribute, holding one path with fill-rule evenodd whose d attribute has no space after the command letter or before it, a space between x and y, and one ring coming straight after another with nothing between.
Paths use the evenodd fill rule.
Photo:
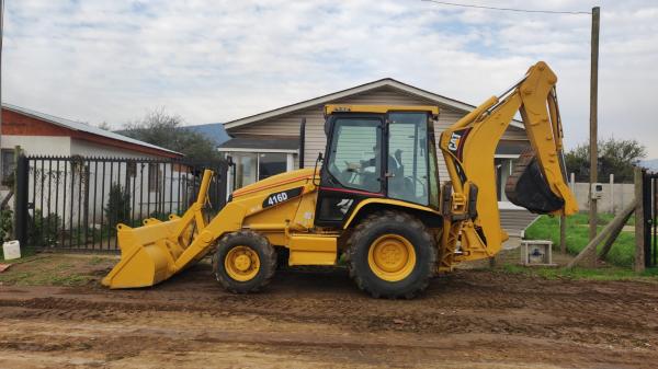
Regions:
<instances>
[{"instance_id":1,"label":"wide yellow front loader bucket resting on the ground","mask_svg":"<svg viewBox=\"0 0 658 369\"><path fill-rule=\"evenodd\" d=\"M110 288L154 286L201 260L207 250L192 250L193 237L205 228L202 210L213 171L206 170L198 197L183 217L146 219L143 227L117 224L121 261L103 278Z\"/></svg>"}]
</instances>

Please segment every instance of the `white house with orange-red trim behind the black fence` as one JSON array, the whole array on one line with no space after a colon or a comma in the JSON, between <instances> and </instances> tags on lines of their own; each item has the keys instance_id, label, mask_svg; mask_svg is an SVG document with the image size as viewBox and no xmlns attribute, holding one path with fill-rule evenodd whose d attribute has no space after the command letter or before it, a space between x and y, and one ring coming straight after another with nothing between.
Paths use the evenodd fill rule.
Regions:
<instances>
[{"instance_id":1,"label":"white house with orange-red trim behind the black fence","mask_svg":"<svg viewBox=\"0 0 658 369\"><path fill-rule=\"evenodd\" d=\"M173 188L186 191L194 185L186 168L171 161L183 157L179 152L84 123L2 104L1 198L9 193L16 146L25 155L41 158L29 159L30 206L44 215L67 215L66 227L81 217L91 224L102 222L113 186L129 192L132 212L140 218L164 208L162 204L168 210L173 203L179 206L181 200ZM186 207L185 200L182 206Z\"/></svg>"}]
</instances>

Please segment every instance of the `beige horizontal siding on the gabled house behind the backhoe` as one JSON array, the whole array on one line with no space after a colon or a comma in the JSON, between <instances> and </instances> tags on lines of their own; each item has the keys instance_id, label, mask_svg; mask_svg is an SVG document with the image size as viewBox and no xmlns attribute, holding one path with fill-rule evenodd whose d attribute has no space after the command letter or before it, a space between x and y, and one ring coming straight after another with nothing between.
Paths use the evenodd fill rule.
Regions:
<instances>
[{"instance_id":1,"label":"beige horizontal siding on the gabled house behind the backhoe","mask_svg":"<svg viewBox=\"0 0 658 369\"><path fill-rule=\"evenodd\" d=\"M419 97L390 87L373 89L364 93L331 101L330 103L364 105L439 105L439 122L434 127L436 140L439 140L439 136L446 127L451 126L466 114L466 112L455 109L452 106L441 105L435 101ZM325 151L326 137L322 108L324 104L315 105L286 115L258 120L240 127L228 128L227 131L236 137L240 135L281 135L298 137L302 118L306 118L304 162L305 166L309 168L314 165L318 152ZM525 132L523 129L510 127L503 136L503 139L525 139ZM297 166L298 158L295 155L295 168ZM446 181L449 178L445 163L441 159L439 159L439 175L441 181Z\"/></svg>"}]
</instances>

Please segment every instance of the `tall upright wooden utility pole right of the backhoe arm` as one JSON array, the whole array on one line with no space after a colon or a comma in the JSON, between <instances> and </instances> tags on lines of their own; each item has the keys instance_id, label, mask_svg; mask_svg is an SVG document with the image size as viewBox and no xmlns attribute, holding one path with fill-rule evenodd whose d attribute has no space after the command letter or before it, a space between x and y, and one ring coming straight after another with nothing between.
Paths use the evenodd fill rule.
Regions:
<instances>
[{"instance_id":1,"label":"tall upright wooden utility pole right of the backhoe arm","mask_svg":"<svg viewBox=\"0 0 658 369\"><path fill-rule=\"evenodd\" d=\"M599 25L600 25L600 8L592 8L592 54L590 69L590 212L589 212L589 240L590 242L597 237L597 199L593 198L592 186L598 182L598 105L599 105ZM588 257L586 265L597 265L597 250L593 249Z\"/></svg>"}]
</instances>

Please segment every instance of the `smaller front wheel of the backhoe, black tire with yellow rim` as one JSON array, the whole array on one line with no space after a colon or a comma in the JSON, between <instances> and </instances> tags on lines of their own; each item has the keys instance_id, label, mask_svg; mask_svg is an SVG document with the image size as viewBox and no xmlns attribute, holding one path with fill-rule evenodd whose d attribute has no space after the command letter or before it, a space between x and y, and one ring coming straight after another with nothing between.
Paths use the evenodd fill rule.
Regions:
<instances>
[{"instance_id":1,"label":"smaller front wheel of the backhoe, black tire with yellow rim","mask_svg":"<svg viewBox=\"0 0 658 369\"><path fill-rule=\"evenodd\" d=\"M276 269L276 252L266 238L251 231L225 235L213 256L217 281L234 293L265 287Z\"/></svg>"}]
</instances>

